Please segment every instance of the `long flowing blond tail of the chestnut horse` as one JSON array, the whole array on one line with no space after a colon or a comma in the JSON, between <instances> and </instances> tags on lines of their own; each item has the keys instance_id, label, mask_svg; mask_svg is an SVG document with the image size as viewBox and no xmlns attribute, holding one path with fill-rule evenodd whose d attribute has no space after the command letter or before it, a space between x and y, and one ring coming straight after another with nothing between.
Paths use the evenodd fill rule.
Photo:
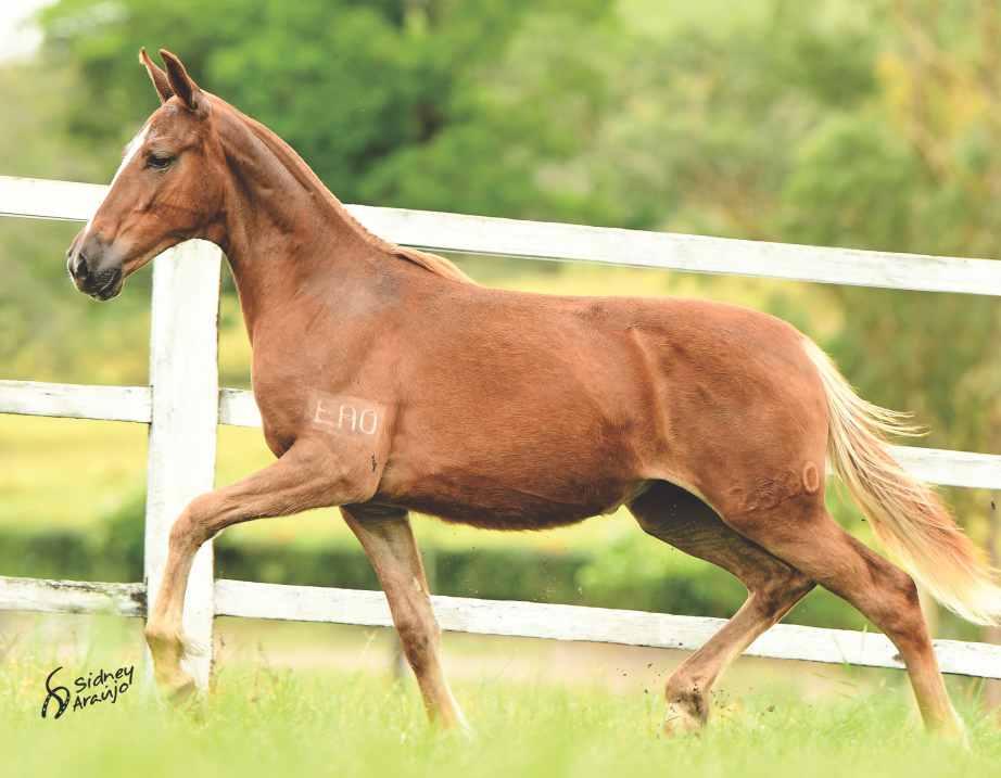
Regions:
<instances>
[{"instance_id":1,"label":"long flowing blond tail of the chestnut horse","mask_svg":"<svg viewBox=\"0 0 1001 778\"><path fill-rule=\"evenodd\" d=\"M911 477L886 435L917 435L903 413L859 397L831 358L806 340L827 396L827 457L876 537L946 608L976 624L1001 624L998 572L956 526L938 495Z\"/></svg>"}]
</instances>

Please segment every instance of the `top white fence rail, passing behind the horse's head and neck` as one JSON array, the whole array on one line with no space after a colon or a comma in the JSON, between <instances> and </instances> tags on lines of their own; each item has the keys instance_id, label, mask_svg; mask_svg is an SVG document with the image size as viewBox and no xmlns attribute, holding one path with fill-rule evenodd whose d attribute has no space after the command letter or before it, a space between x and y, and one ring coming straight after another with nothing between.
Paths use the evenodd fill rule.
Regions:
<instances>
[{"instance_id":1,"label":"top white fence rail, passing behind the horse's head and neck","mask_svg":"<svg viewBox=\"0 0 1001 778\"><path fill-rule=\"evenodd\" d=\"M106 189L93 183L0 176L0 216L86 221ZM1001 296L1001 272L991 259L823 248L368 205L347 208L378 235L434 251Z\"/></svg>"}]
</instances>

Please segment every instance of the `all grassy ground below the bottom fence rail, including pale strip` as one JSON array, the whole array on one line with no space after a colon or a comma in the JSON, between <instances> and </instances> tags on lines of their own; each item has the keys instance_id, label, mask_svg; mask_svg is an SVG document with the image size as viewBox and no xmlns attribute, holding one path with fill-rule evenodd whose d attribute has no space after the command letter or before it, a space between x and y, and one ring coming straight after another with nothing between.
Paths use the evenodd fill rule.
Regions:
<instances>
[{"instance_id":1,"label":"all grassy ground below the bottom fence rail, including pale strip","mask_svg":"<svg viewBox=\"0 0 1001 778\"><path fill-rule=\"evenodd\" d=\"M138 620L20 616L0 629L4 776L990 776L998 718L951 679L964 752L927 737L902 673L740 660L700 737L660 735L663 680L684 654L446 633L471 741L430 728L416 685L393 681L391 633L223 618L203 706L162 706L142 680ZM45 678L67 685L135 663L115 704L39 716ZM514 665L520 665L520 668Z\"/></svg>"}]
</instances>

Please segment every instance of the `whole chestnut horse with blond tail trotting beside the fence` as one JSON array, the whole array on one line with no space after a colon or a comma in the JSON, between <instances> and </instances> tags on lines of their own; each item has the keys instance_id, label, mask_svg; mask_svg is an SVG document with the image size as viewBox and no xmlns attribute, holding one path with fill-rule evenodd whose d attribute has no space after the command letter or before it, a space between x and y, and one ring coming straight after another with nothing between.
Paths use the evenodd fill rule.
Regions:
<instances>
[{"instance_id":1,"label":"whole chestnut horse with blond tail trotting beside the fence","mask_svg":"<svg viewBox=\"0 0 1001 778\"><path fill-rule=\"evenodd\" d=\"M998 623L993 573L890 457L898 416L860 399L803 334L693 299L485 289L447 260L367 232L275 133L140 61L162 105L68 252L81 292L114 297L181 241L218 244L253 346L277 460L194 499L170 533L145 637L183 697L181 614L195 550L231 524L339 506L379 576L428 713L465 725L442 672L408 512L542 530L626 506L650 535L749 592L667 684L668 732L701 727L723 669L816 584L894 641L926 725L949 701L908 573L824 508L826 465L882 540L946 605Z\"/></svg>"}]
</instances>

